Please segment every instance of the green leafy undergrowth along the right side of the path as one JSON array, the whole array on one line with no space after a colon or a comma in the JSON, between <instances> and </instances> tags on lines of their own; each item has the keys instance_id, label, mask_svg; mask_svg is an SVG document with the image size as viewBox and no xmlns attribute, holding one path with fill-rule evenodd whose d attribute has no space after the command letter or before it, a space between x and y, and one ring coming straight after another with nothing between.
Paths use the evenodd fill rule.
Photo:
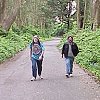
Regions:
<instances>
[{"instance_id":1,"label":"green leafy undergrowth along the right side of the path","mask_svg":"<svg viewBox=\"0 0 100 100\"><path fill-rule=\"evenodd\" d=\"M76 62L100 80L100 30L73 29L63 36L61 44L66 41L68 35L74 36L80 50Z\"/></svg>"}]
</instances>

